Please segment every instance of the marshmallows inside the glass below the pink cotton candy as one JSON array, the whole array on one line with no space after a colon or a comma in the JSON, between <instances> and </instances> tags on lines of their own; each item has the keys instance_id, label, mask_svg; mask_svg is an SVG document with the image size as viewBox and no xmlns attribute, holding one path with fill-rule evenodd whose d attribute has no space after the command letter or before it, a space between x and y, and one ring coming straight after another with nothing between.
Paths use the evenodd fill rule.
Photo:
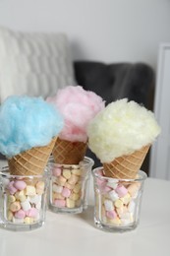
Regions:
<instances>
[{"instance_id":1,"label":"marshmallows inside the glass below the pink cotton candy","mask_svg":"<svg viewBox=\"0 0 170 256\"><path fill-rule=\"evenodd\" d=\"M52 169L51 198L52 205L58 208L80 207L84 198L83 175L85 169L80 165L59 165Z\"/></svg>"}]
</instances>

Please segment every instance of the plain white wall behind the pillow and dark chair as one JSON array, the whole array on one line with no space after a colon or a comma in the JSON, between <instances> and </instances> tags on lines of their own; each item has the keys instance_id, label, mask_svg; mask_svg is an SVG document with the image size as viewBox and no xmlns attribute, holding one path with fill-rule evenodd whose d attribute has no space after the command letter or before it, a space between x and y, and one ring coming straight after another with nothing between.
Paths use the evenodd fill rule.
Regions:
<instances>
[{"instance_id":1,"label":"plain white wall behind the pillow and dark chair","mask_svg":"<svg viewBox=\"0 0 170 256\"><path fill-rule=\"evenodd\" d=\"M170 42L170 0L0 0L0 25L66 32L74 59L157 65Z\"/></svg>"}]
</instances>

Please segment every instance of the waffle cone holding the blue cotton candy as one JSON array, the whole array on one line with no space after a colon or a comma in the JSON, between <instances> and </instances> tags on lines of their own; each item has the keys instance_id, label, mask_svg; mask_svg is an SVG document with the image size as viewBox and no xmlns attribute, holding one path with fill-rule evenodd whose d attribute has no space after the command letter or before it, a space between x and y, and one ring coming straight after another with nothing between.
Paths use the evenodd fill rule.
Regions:
<instances>
[{"instance_id":1,"label":"waffle cone holding the blue cotton candy","mask_svg":"<svg viewBox=\"0 0 170 256\"><path fill-rule=\"evenodd\" d=\"M44 147L34 147L8 160L12 175L39 175L42 174L52 153L56 138Z\"/></svg>"}]
</instances>

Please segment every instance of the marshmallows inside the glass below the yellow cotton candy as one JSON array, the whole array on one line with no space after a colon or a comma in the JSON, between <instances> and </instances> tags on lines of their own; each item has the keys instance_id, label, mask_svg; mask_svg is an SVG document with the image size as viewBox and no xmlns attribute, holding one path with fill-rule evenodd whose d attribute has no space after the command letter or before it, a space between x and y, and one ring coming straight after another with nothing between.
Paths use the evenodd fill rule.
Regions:
<instances>
[{"instance_id":1,"label":"marshmallows inside the glass below the yellow cotton candy","mask_svg":"<svg viewBox=\"0 0 170 256\"><path fill-rule=\"evenodd\" d=\"M100 173L102 175L102 173ZM121 183L113 179L97 178L96 204L101 204L101 221L104 224L127 225L135 220L140 196L140 182Z\"/></svg>"}]
</instances>

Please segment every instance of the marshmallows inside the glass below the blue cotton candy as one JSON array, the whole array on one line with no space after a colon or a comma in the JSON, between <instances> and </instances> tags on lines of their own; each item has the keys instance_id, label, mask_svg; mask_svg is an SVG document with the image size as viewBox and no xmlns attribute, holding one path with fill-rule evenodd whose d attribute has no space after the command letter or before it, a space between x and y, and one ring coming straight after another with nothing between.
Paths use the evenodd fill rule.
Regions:
<instances>
[{"instance_id":1,"label":"marshmallows inside the glass below the blue cotton candy","mask_svg":"<svg viewBox=\"0 0 170 256\"><path fill-rule=\"evenodd\" d=\"M7 220L15 224L33 224L40 219L44 182L11 180L6 185Z\"/></svg>"}]
</instances>

